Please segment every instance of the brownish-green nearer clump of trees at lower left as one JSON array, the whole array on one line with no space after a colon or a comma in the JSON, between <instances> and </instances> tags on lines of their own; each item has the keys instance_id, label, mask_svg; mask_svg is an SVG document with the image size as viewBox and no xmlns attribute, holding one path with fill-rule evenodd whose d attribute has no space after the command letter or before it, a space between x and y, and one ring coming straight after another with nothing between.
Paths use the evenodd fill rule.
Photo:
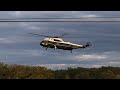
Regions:
<instances>
[{"instance_id":1,"label":"brownish-green nearer clump of trees at lower left","mask_svg":"<svg viewBox=\"0 0 120 90\"><path fill-rule=\"evenodd\" d=\"M0 79L54 79L54 77L54 73L45 67L0 63Z\"/></svg>"}]
</instances>

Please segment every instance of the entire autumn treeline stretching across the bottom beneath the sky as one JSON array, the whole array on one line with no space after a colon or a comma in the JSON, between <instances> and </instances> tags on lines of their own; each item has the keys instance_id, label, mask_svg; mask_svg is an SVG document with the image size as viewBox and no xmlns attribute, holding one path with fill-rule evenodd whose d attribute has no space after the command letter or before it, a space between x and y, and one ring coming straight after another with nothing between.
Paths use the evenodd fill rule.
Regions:
<instances>
[{"instance_id":1,"label":"entire autumn treeline stretching across the bottom beneath the sky","mask_svg":"<svg viewBox=\"0 0 120 90\"><path fill-rule=\"evenodd\" d=\"M40 66L0 63L0 79L120 79L120 67L50 70Z\"/></svg>"}]
</instances>

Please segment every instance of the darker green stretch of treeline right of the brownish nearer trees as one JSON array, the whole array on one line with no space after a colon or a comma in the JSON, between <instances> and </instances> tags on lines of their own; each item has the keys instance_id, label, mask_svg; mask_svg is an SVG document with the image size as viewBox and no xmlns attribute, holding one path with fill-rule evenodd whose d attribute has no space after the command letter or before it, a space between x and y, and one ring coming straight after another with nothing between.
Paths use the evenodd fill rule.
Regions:
<instances>
[{"instance_id":1,"label":"darker green stretch of treeline right of the brownish nearer trees","mask_svg":"<svg viewBox=\"0 0 120 90\"><path fill-rule=\"evenodd\" d=\"M56 70L56 79L120 79L120 67L68 68Z\"/></svg>"}]
</instances>

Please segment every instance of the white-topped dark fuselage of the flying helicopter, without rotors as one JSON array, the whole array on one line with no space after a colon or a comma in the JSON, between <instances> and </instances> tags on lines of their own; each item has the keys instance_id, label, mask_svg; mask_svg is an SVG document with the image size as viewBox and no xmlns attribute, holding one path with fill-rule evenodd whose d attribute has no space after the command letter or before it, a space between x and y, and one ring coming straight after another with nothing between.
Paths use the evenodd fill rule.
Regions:
<instances>
[{"instance_id":1,"label":"white-topped dark fuselage of the flying helicopter, without rotors","mask_svg":"<svg viewBox=\"0 0 120 90\"><path fill-rule=\"evenodd\" d=\"M85 48L85 45L74 44L70 42L65 42L61 38L45 38L40 42L40 45L47 48L63 49L63 50L73 50L78 48Z\"/></svg>"}]
</instances>

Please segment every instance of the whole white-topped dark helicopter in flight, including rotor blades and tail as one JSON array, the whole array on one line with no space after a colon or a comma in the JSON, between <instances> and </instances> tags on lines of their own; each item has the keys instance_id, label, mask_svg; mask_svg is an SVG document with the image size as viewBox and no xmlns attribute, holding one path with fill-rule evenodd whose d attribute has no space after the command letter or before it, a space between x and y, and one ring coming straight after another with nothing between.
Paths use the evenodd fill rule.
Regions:
<instances>
[{"instance_id":1,"label":"whole white-topped dark helicopter in flight, including rotor blades and tail","mask_svg":"<svg viewBox=\"0 0 120 90\"><path fill-rule=\"evenodd\" d=\"M72 38L72 37L63 37L66 34L62 34L60 36L54 36L54 37L35 34L35 33L29 33L29 34L45 37L44 40L42 40L40 42L40 46L45 47L46 50L48 48L52 48L54 50L62 49L62 50L69 50L72 53L73 49L86 48L86 47L90 47L92 45L90 42L85 42L85 44L75 44L75 43L71 43L71 42L66 42L62 38ZM75 37L73 37L73 38L75 38Z\"/></svg>"}]
</instances>

